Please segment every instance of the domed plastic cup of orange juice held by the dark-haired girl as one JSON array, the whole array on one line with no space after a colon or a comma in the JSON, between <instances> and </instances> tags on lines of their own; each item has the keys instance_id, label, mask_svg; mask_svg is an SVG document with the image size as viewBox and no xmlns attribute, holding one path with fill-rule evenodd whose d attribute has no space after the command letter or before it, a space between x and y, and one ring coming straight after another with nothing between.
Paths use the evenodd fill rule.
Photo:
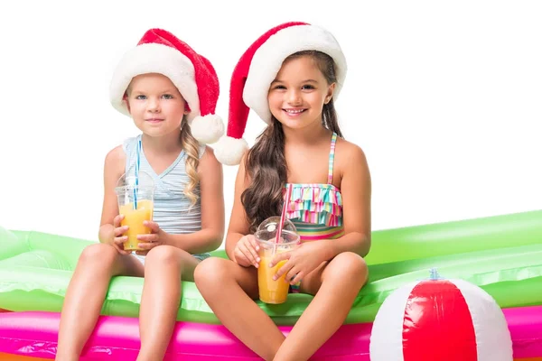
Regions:
<instances>
[{"instance_id":1,"label":"domed plastic cup of orange juice held by the dark-haired girl","mask_svg":"<svg viewBox=\"0 0 542 361\"><path fill-rule=\"evenodd\" d=\"M273 276L287 262L286 260L280 261L274 267L269 267L269 264L276 254L293 251L299 245L299 235L289 220L285 221L285 227L283 227L278 243L276 243L279 219L276 217L266 219L254 235L259 245L260 257L257 268L259 299L272 304L286 301L290 283L285 281L285 274L276 281L273 280Z\"/></svg>"}]
</instances>

